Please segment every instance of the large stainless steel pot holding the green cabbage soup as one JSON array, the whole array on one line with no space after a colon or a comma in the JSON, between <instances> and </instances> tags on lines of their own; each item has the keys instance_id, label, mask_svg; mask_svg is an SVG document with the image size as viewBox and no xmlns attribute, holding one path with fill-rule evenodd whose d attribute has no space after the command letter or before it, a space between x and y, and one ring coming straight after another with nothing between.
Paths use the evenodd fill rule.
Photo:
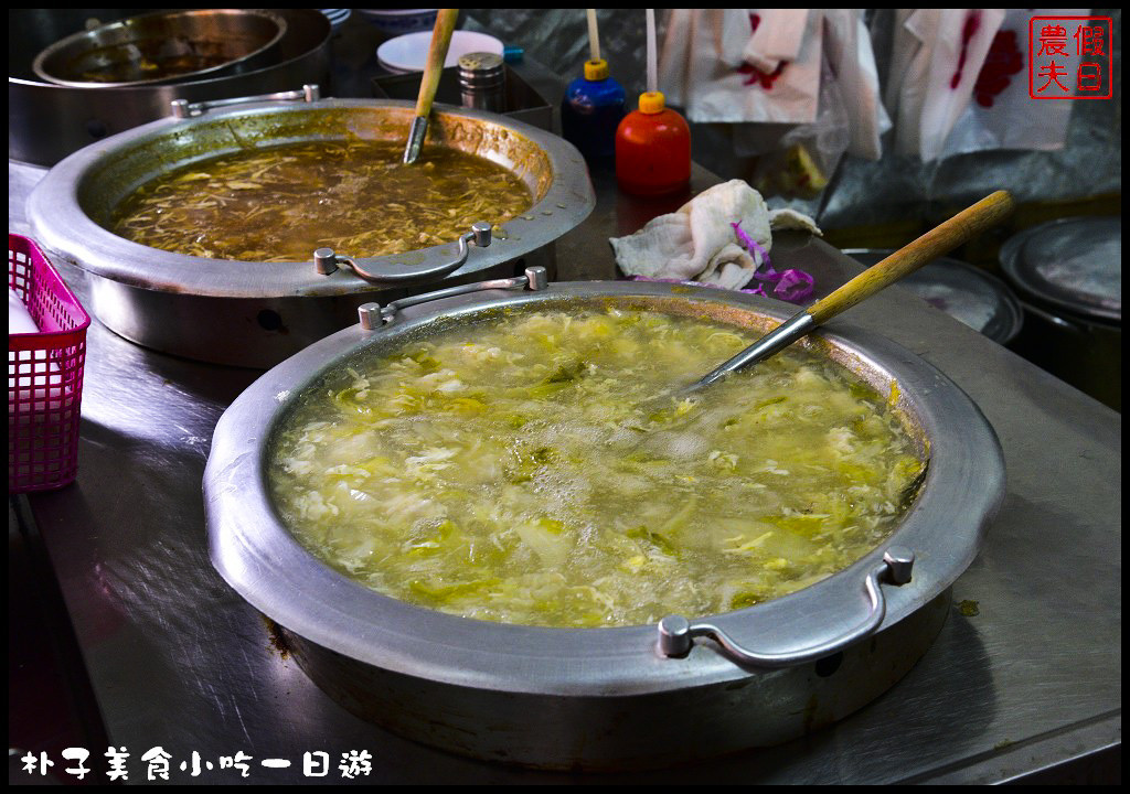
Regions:
<instances>
[{"instance_id":1,"label":"large stainless steel pot holding the green cabbage soup","mask_svg":"<svg viewBox=\"0 0 1130 794\"><path fill-rule=\"evenodd\" d=\"M916 500L894 536L850 568L694 621L689 632L676 619L549 629L443 614L347 579L285 529L268 491L268 448L296 400L321 387L327 373L440 329L466 326L473 335L475 321L501 312L609 302L747 328L785 316L762 298L642 282L493 288L400 312L370 306L362 324L264 374L220 419L205 473L212 561L281 627L307 674L358 715L492 760L584 769L676 764L784 742L838 719L888 689L937 636L950 585L1003 498L1000 446L939 372L846 324L806 344L879 393L897 393L896 410L929 455ZM382 315L391 320L383 326ZM912 578L880 585L894 574L892 559L905 555L898 547L916 557ZM702 638L713 642L694 644Z\"/></svg>"}]
</instances>

